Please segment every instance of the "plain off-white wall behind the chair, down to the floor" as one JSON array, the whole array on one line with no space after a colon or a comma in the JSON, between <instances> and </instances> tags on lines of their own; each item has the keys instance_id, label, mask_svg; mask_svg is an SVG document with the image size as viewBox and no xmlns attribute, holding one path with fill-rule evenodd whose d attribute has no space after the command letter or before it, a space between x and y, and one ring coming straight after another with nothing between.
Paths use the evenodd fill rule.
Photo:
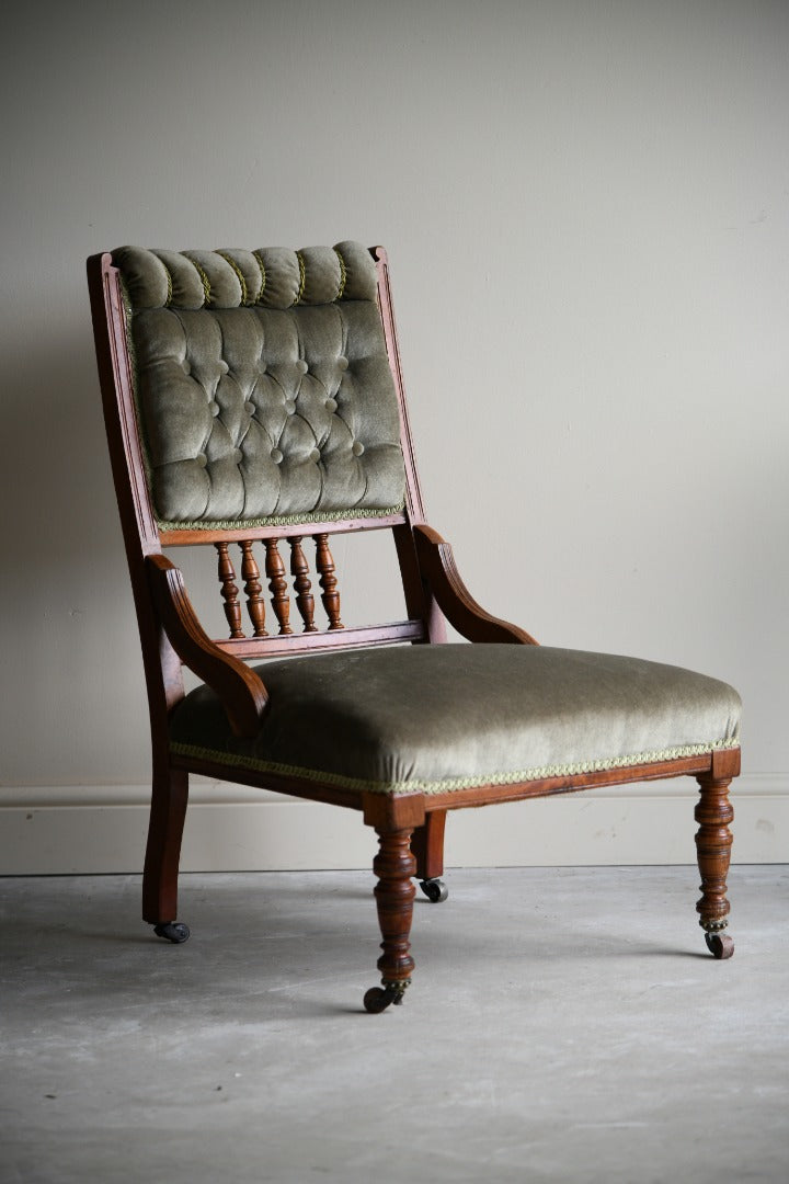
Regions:
<instances>
[{"instance_id":1,"label":"plain off-white wall behind the chair, down to the floor","mask_svg":"<svg viewBox=\"0 0 789 1184\"><path fill-rule=\"evenodd\" d=\"M141 861L142 669L85 257L345 237L389 250L428 509L474 593L543 642L735 683L738 852L785 858L788 51L789 6L758 0L6 15L2 867ZM308 816L201 792L189 866L319 861L291 834ZM649 793L641 815L621 793L543 805L575 811L570 858L692 858L690 804L678 848L677 799ZM562 858L560 817L471 813L450 858ZM366 862L358 819L337 825L326 860ZM239 854L256 826L260 855Z\"/></svg>"}]
</instances>

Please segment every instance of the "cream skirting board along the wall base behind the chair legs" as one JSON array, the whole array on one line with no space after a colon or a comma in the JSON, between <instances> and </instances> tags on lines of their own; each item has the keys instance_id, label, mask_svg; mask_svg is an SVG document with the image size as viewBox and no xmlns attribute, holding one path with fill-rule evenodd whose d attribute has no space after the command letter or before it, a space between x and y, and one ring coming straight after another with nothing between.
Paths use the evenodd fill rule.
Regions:
<instances>
[{"instance_id":1,"label":"cream skirting board along the wall base behind the chair legs","mask_svg":"<svg viewBox=\"0 0 789 1184\"><path fill-rule=\"evenodd\" d=\"M450 867L692 863L690 778L460 810ZM142 785L0 790L0 875L136 873L148 824ZM789 773L739 778L737 863L789 861ZM368 868L375 836L356 811L194 778L185 871Z\"/></svg>"}]
</instances>

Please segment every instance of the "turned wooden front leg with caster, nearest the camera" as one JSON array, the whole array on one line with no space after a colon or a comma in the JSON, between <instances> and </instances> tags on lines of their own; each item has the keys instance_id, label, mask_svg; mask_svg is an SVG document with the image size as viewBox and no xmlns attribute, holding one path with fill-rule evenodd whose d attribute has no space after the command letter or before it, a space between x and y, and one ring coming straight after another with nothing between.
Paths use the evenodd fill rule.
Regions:
<instances>
[{"instance_id":1,"label":"turned wooden front leg with caster, nearest the camera","mask_svg":"<svg viewBox=\"0 0 789 1184\"><path fill-rule=\"evenodd\" d=\"M377 961L382 986L373 986L364 995L364 1006L373 1012L383 1011L390 1003L402 1003L410 984L414 959L408 938L416 895L412 883L416 861L410 854L410 830L379 830L377 835L379 854L373 870L379 877L375 902L383 953Z\"/></svg>"}]
</instances>

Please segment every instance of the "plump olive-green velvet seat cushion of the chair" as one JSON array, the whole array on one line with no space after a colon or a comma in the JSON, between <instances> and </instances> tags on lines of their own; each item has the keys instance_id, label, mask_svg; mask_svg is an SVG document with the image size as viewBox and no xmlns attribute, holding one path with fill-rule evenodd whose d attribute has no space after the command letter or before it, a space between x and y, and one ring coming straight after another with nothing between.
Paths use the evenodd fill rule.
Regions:
<instances>
[{"instance_id":1,"label":"plump olive-green velvet seat cushion of the chair","mask_svg":"<svg viewBox=\"0 0 789 1184\"><path fill-rule=\"evenodd\" d=\"M256 667L259 733L218 696L175 710L175 753L347 790L444 793L590 773L738 745L741 701L678 667L536 645L351 650Z\"/></svg>"}]
</instances>

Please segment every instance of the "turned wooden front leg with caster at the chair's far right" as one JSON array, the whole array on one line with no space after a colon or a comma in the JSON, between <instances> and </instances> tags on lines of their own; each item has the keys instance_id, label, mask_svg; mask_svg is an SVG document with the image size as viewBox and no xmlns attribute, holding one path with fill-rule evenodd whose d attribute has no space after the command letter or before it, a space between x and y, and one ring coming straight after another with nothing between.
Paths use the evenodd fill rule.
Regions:
<instances>
[{"instance_id":1,"label":"turned wooden front leg with caster at the chair's far right","mask_svg":"<svg viewBox=\"0 0 789 1184\"><path fill-rule=\"evenodd\" d=\"M732 836L729 823L735 811L729 802L731 778L717 778L712 773L697 777L701 796L696 807L699 829L696 835L699 871L701 873L701 897L696 906L704 939L714 958L731 958L735 942L724 933L729 925L730 909L726 900L726 875L731 856Z\"/></svg>"}]
</instances>

